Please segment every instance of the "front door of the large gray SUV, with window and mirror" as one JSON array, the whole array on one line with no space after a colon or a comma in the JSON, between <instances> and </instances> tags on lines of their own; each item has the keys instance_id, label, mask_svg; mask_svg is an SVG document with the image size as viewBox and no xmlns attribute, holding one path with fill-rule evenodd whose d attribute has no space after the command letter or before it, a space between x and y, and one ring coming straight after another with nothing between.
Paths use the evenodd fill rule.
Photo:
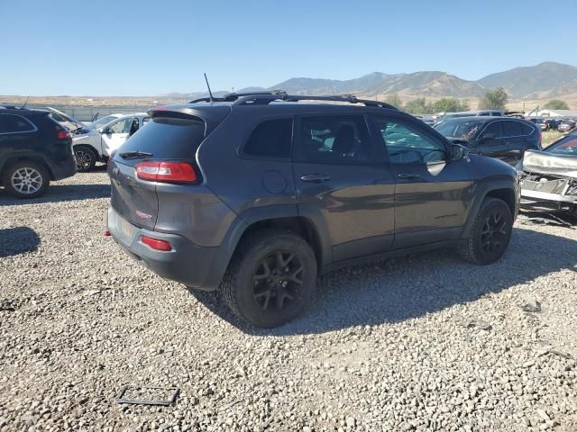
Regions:
<instances>
[{"instance_id":1,"label":"front door of the large gray SUV, with window and mirror","mask_svg":"<svg viewBox=\"0 0 577 432\"><path fill-rule=\"evenodd\" d=\"M448 142L405 116L373 121L395 177L393 247L457 238L472 196L468 158L449 161Z\"/></svg>"}]
</instances>

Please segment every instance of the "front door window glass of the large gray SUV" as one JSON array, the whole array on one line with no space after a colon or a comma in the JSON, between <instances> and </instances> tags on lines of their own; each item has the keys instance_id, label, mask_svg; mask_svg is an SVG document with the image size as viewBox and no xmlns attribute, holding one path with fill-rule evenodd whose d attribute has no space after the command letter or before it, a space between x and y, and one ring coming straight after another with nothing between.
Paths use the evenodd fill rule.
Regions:
<instances>
[{"instance_id":1,"label":"front door window glass of the large gray SUV","mask_svg":"<svg viewBox=\"0 0 577 432\"><path fill-rule=\"evenodd\" d=\"M428 137L409 124L380 117L375 118L375 123L392 164L426 165L445 160L443 142Z\"/></svg>"}]
</instances>

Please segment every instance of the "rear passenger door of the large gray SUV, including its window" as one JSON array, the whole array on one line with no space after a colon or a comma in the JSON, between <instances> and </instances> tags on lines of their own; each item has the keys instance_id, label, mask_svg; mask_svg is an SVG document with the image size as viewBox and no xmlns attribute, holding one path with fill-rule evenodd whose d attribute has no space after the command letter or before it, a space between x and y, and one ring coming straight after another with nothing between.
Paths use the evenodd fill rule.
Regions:
<instances>
[{"instance_id":1,"label":"rear passenger door of the large gray SUV, including its window","mask_svg":"<svg viewBox=\"0 0 577 432\"><path fill-rule=\"evenodd\" d=\"M329 261L388 250L395 181L365 116L297 116L294 136L298 213L325 231Z\"/></svg>"}]
</instances>

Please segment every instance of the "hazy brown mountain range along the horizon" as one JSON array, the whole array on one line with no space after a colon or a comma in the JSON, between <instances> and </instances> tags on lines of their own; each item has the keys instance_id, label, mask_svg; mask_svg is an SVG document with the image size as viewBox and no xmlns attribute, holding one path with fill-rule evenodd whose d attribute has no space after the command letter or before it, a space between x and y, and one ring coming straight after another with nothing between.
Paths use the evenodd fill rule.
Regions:
<instances>
[{"instance_id":1,"label":"hazy brown mountain range along the horizon","mask_svg":"<svg viewBox=\"0 0 577 432\"><path fill-rule=\"evenodd\" d=\"M348 80L295 77L269 88L248 87L238 92L282 89L289 94L398 94L413 97L477 98L485 92L503 87L512 99L546 99L577 95L577 67L544 62L531 67L513 69L469 81L441 71L422 71L409 74L369 75ZM225 94L228 92L215 92ZM204 97L206 93L168 94L175 98Z\"/></svg>"}]
</instances>

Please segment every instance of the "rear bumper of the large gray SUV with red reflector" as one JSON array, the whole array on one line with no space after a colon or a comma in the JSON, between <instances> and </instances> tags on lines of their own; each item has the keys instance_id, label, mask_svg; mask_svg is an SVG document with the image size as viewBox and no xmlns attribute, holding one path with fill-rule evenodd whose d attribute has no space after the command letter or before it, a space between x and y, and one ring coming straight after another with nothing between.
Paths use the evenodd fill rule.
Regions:
<instances>
[{"instance_id":1,"label":"rear bumper of the large gray SUV with red reflector","mask_svg":"<svg viewBox=\"0 0 577 432\"><path fill-rule=\"evenodd\" d=\"M134 226L108 208L108 230L114 241L124 251L157 275L187 286L214 290L213 265L218 247L200 247L188 238L177 234L151 231ZM160 252L144 245L141 236L166 240L172 246L170 252Z\"/></svg>"}]
</instances>

